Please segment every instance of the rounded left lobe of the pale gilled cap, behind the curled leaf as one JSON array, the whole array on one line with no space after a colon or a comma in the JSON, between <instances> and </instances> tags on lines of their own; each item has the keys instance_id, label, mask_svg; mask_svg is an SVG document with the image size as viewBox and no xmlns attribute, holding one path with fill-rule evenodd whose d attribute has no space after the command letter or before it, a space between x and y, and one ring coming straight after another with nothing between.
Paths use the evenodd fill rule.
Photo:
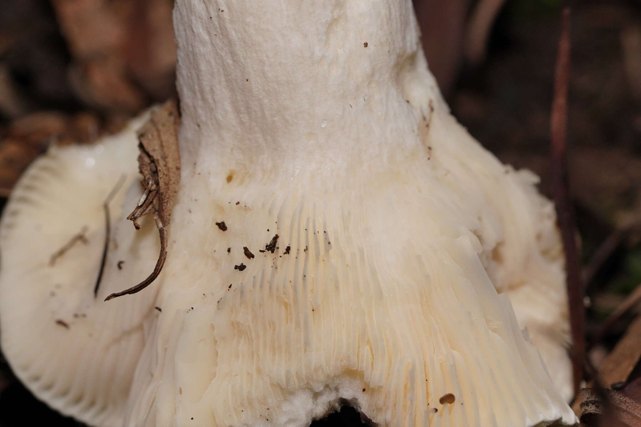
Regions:
<instances>
[{"instance_id":1,"label":"rounded left lobe of the pale gilled cap, behind the curled leaf","mask_svg":"<svg viewBox=\"0 0 641 427\"><path fill-rule=\"evenodd\" d=\"M144 120L92 145L51 147L13 189L0 224L3 353L38 398L93 426L122 425L156 312L153 291L103 302L145 277L158 251L153 220L137 233L124 221L141 193L135 131Z\"/></svg>"}]
</instances>

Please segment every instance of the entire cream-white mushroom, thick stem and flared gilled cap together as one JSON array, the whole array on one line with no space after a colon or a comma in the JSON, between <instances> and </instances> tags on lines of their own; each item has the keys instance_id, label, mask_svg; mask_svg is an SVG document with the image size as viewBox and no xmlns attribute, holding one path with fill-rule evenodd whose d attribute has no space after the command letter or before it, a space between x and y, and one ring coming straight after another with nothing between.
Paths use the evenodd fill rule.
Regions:
<instances>
[{"instance_id":1,"label":"entire cream-white mushroom, thick stem and flared gilled cap together","mask_svg":"<svg viewBox=\"0 0 641 427\"><path fill-rule=\"evenodd\" d=\"M410 0L176 0L174 26L158 278L103 302L160 248L124 221L140 120L52 149L6 208L2 345L39 398L92 426L307 426L345 401L379 426L577 422L552 206L449 114Z\"/></svg>"}]
</instances>

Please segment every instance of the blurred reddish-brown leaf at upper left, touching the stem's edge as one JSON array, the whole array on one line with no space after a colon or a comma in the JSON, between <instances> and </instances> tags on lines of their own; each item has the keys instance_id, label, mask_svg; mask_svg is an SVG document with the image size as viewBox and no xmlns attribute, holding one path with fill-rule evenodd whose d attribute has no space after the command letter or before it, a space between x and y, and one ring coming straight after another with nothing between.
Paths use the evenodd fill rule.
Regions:
<instances>
[{"instance_id":1,"label":"blurred reddish-brown leaf at upper left, touching the stem's edge","mask_svg":"<svg viewBox=\"0 0 641 427\"><path fill-rule=\"evenodd\" d=\"M172 0L51 0L73 58L71 83L86 104L138 111L173 96Z\"/></svg>"}]
</instances>

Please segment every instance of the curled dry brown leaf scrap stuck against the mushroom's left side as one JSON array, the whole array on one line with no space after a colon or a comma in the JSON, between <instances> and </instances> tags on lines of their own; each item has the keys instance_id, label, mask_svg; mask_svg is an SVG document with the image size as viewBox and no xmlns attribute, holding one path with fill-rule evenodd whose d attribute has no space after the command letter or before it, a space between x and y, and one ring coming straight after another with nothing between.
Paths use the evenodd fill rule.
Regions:
<instances>
[{"instance_id":1,"label":"curled dry brown leaf scrap stuck against the mushroom's left side","mask_svg":"<svg viewBox=\"0 0 641 427\"><path fill-rule=\"evenodd\" d=\"M138 218L150 213L154 214L158 234L160 234L160 254L149 277L136 286L110 294L104 298L105 301L142 291L156 280L165 264L169 241L167 227L180 182L178 127L178 106L175 101L170 100L152 111L149 121L140 129L138 168L142 173L144 193L127 219L133 221L134 227L139 229Z\"/></svg>"}]
</instances>

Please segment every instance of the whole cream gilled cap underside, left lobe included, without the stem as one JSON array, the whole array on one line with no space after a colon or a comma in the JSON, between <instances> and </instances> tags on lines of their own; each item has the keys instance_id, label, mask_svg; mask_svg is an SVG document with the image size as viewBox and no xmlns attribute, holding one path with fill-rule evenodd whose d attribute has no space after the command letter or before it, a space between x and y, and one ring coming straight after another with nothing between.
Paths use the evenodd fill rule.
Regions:
<instances>
[{"instance_id":1,"label":"whole cream gilled cap underside, left lobe included, without the stem","mask_svg":"<svg viewBox=\"0 0 641 427\"><path fill-rule=\"evenodd\" d=\"M251 173L221 170L192 182L181 189L182 243L163 277L103 303L145 277L158 250L153 225L135 232L124 221L140 197L131 161L139 125L97 145L52 149L24 175L3 219L2 248L20 248L3 256L12 268L0 277L2 325L18 325L3 328L3 348L47 403L95 426L125 416L124 425L140 426L192 417L306 426L345 402L379 425L572 422L493 287L533 296L515 305L521 326L541 317L547 291L537 281L562 294L562 261L549 249L558 242L544 235L549 202L531 174L506 174L451 118L435 120L426 141L433 168L423 166L428 154L403 154L388 159L388 172L354 171L348 188L307 175L287 194L287 175L247 185ZM479 158L485 166L470 168ZM123 173L94 298L103 203ZM85 228L86 241L58 254ZM515 230L520 252L497 255ZM503 269L515 262L520 282L510 287ZM15 310L16 301L40 302ZM548 312L562 317L555 304ZM544 357L558 352L553 344ZM440 403L447 394L454 403Z\"/></svg>"}]
</instances>

